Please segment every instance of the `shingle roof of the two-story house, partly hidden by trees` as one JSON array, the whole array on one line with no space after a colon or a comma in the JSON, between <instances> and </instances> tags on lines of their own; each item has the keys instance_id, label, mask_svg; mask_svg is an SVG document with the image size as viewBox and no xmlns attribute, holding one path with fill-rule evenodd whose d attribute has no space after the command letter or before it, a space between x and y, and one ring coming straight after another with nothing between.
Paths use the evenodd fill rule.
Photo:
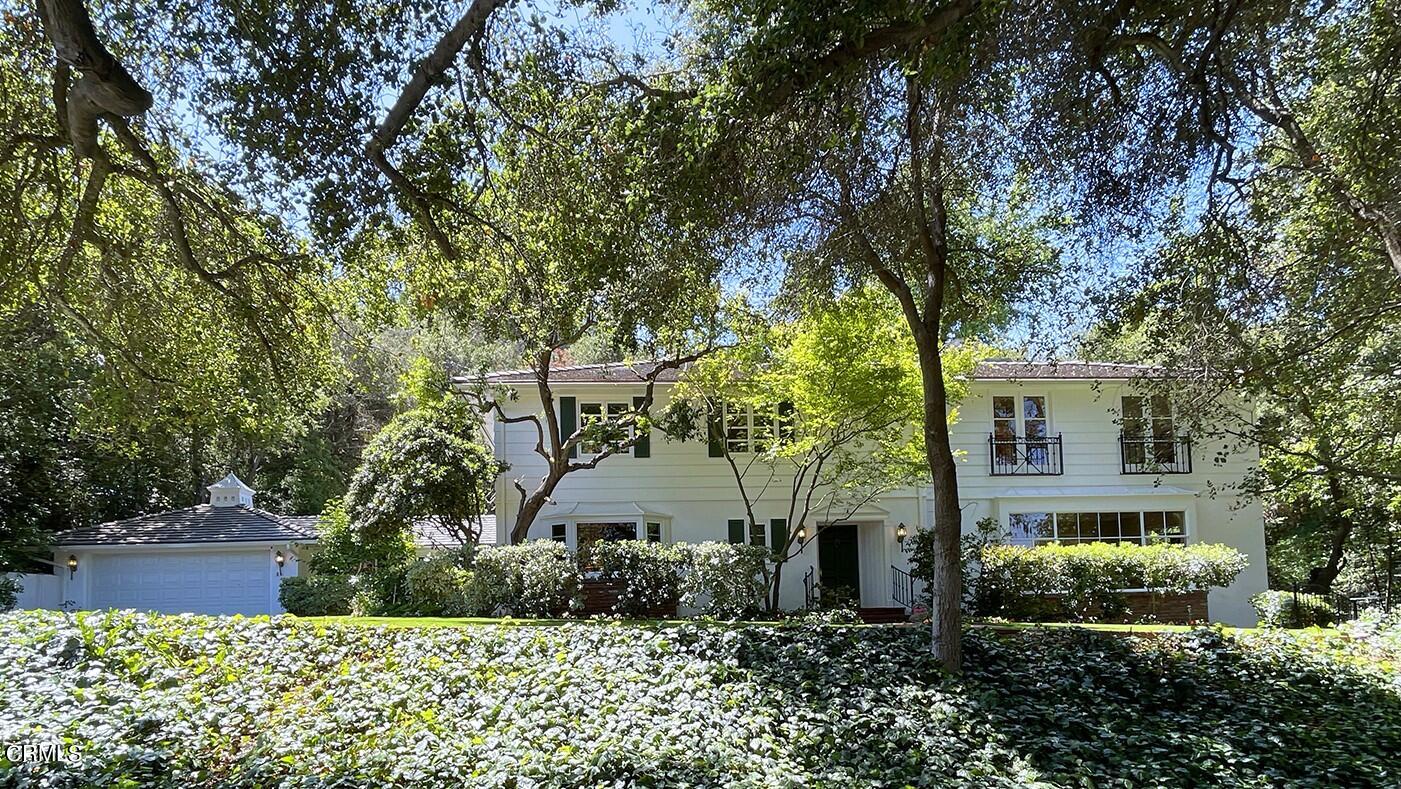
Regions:
<instances>
[{"instance_id":1,"label":"shingle roof of the two-story house, partly hidden by trees","mask_svg":"<svg viewBox=\"0 0 1401 789\"><path fill-rule=\"evenodd\" d=\"M552 383L588 383L588 384L629 384L644 383L647 374L657 367L657 362L635 362L625 364L611 362L605 364L574 364L569 367L553 367L549 371ZM1161 367L1150 364L1122 364L1117 362L1024 362L1024 360L991 360L979 362L974 369L975 380L1009 380L1009 378L1061 378L1061 380L1126 380L1140 377L1163 376ZM663 370L657 376L660 383L672 383L679 377L678 370ZM472 378L457 378L458 383L471 383ZM532 370L500 370L488 373L486 381L490 384L531 384L535 381Z\"/></svg>"}]
</instances>

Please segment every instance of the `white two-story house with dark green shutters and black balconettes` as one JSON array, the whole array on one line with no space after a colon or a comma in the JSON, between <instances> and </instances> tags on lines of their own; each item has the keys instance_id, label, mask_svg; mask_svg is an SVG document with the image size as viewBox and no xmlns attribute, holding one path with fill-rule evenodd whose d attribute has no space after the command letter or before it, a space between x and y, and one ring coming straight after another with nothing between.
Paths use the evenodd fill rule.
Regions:
<instances>
[{"instance_id":1,"label":"white two-story house with dark green shutters and black balconettes","mask_svg":"<svg viewBox=\"0 0 1401 789\"><path fill-rule=\"evenodd\" d=\"M551 388L565 425L597 413L622 412L644 391L647 364L558 367ZM1254 454L1208 447L1184 434L1166 398L1146 395L1135 380L1147 370L1129 364L985 362L969 381L953 425L964 528L995 519L1013 542L1147 541L1150 534L1182 542L1223 542L1250 558L1227 589L1209 593L1209 618L1254 625L1250 596L1265 589L1261 506L1234 493ZM489 376L516 388L509 416L537 413L541 402L528 371ZM675 373L658 377L656 404L664 408ZM766 416L727 413L731 454L752 451ZM493 420L499 458L510 464L496 490L497 534L514 526L520 478L530 489L544 474L535 427ZM587 451L588 447L584 447ZM577 549L597 540L663 542L750 541L766 544L771 530L750 534L729 464L705 440L651 436L639 450L572 472L530 527L531 538ZM789 514L785 485L768 486L755 516L769 523ZM841 523L824 524L785 569L780 604L801 607L806 584L842 586L863 607L898 604L908 554L901 534L932 524L925 488L898 489L864 505Z\"/></svg>"}]
</instances>

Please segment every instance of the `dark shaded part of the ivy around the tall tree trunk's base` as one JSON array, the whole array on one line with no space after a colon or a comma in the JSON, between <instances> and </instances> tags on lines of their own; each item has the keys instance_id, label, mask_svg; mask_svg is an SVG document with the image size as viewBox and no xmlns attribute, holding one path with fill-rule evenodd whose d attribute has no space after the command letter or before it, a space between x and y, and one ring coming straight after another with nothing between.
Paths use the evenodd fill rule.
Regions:
<instances>
[{"instance_id":1,"label":"dark shaded part of the ivy around the tall tree trunk's base","mask_svg":"<svg viewBox=\"0 0 1401 789\"><path fill-rule=\"evenodd\" d=\"M965 632L950 678L923 632L820 633L731 635L793 715L831 722L832 741L808 748L814 769L866 762L881 783L979 782L955 772L968 765L1027 781L1016 772L1030 765L1075 786L1401 785L1395 680L1285 636Z\"/></svg>"}]
</instances>

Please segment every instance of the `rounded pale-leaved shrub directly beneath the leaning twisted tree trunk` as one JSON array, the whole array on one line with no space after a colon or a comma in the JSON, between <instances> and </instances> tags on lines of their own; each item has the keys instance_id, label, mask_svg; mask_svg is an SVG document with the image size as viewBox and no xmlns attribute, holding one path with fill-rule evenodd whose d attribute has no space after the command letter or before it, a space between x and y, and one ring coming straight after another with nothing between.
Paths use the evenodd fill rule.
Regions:
<instances>
[{"instance_id":1,"label":"rounded pale-leaved shrub directly beneath the leaning twisted tree trunk","mask_svg":"<svg viewBox=\"0 0 1401 789\"><path fill-rule=\"evenodd\" d=\"M580 580L562 544L535 540L479 549L464 594L478 614L504 608L514 617L558 617L581 604Z\"/></svg>"}]
</instances>

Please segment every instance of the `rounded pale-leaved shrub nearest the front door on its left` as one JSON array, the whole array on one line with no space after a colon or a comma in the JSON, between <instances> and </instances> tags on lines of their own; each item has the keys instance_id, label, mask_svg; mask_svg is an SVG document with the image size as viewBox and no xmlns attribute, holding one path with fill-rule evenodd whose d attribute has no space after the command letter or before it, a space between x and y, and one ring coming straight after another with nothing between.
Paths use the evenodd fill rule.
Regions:
<instances>
[{"instance_id":1,"label":"rounded pale-leaved shrub nearest the front door on its left","mask_svg":"<svg viewBox=\"0 0 1401 789\"><path fill-rule=\"evenodd\" d=\"M681 580L681 603L702 617L743 619L764 608L764 565L768 551L757 545L698 542Z\"/></svg>"}]
</instances>

